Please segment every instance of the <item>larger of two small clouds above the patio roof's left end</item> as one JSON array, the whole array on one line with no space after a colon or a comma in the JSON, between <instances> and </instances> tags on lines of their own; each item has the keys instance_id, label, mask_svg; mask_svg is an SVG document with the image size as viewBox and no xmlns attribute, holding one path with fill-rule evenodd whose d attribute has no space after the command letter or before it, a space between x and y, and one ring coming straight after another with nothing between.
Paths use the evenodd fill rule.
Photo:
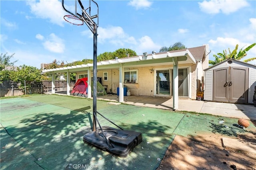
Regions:
<instances>
[{"instance_id":1,"label":"larger of two small clouds above the patio roof's left end","mask_svg":"<svg viewBox=\"0 0 256 170\"><path fill-rule=\"evenodd\" d=\"M63 53L65 49L65 44L63 40L56 36L54 33L51 33L48 40L43 43L44 48L54 52L54 53Z\"/></svg>"}]
</instances>

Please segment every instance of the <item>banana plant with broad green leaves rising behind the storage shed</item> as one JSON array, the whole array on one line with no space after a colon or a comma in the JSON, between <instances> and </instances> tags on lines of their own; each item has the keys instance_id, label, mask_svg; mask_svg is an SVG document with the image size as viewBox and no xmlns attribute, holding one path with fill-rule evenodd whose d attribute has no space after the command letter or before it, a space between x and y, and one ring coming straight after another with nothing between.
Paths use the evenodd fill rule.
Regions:
<instances>
[{"instance_id":1,"label":"banana plant with broad green leaves rising behind the storage shed","mask_svg":"<svg viewBox=\"0 0 256 170\"><path fill-rule=\"evenodd\" d=\"M213 55L215 60L214 61L209 60L209 64L215 65L215 64L220 63L226 59L241 60L242 58L244 58L247 55L246 52L249 51L250 49L252 49L252 47L254 47L255 45L256 45L256 43L253 43L252 45L249 45L248 47L246 47L246 49L244 49L244 50L243 50L243 48L240 49L239 52L237 53L237 50L238 50L238 44L237 44L235 49L232 52L228 48L229 54L227 54L226 50L223 50L223 53L217 53L217 55ZM250 62L253 60L256 60L256 57L246 59L246 60L244 60L244 62L247 63L247 62Z\"/></svg>"}]
</instances>

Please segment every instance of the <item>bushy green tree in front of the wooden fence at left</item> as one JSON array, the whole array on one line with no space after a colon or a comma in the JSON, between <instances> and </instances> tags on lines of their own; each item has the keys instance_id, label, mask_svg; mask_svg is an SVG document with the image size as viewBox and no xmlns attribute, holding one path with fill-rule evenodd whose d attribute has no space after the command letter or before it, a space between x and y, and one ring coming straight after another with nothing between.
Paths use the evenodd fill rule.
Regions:
<instances>
[{"instance_id":1,"label":"bushy green tree in front of the wooden fence at left","mask_svg":"<svg viewBox=\"0 0 256 170\"><path fill-rule=\"evenodd\" d=\"M30 84L32 82L41 82L41 70L33 66L22 65L17 68L17 71L12 72L11 75L15 82L20 82L19 88L22 88L22 91L25 92L25 82L26 90L31 88Z\"/></svg>"}]
</instances>

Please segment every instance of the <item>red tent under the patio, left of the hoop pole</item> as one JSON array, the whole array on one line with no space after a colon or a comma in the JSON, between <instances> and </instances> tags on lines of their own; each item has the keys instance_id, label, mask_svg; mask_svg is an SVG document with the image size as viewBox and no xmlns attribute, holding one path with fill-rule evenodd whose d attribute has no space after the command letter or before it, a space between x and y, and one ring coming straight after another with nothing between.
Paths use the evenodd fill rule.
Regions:
<instances>
[{"instance_id":1,"label":"red tent under the patio, left of the hoop pole","mask_svg":"<svg viewBox=\"0 0 256 170\"><path fill-rule=\"evenodd\" d=\"M87 97L87 87L88 87L87 81L88 81L87 77L78 79L76 84L74 85L71 95Z\"/></svg>"}]
</instances>

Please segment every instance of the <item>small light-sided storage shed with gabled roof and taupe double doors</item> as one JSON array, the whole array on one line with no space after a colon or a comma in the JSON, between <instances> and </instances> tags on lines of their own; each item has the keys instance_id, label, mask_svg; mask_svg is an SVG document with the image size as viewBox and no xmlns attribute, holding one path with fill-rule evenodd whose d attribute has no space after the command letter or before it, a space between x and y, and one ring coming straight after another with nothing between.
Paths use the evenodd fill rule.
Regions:
<instances>
[{"instance_id":1,"label":"small light-sided storage shed with gabled roof and taupe double doors","mask_svg":"<svg viewBox=\"0 0 256 170\"><path fill-rule=\"evenodd\" d=\"M227 59L204 69L204 100L253 103L256 65Z\"/></svg>"}]
</instances>

